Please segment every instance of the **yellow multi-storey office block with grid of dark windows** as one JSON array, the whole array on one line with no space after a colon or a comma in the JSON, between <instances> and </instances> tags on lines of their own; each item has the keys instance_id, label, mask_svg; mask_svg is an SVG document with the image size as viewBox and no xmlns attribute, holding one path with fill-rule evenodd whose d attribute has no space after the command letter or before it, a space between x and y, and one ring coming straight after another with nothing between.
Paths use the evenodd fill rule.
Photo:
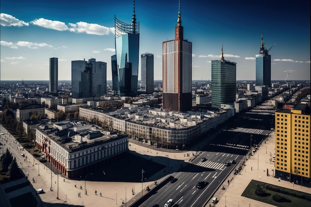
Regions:
<instances>
[{"instance_id":1,"label":"yellow multi-storey office block with grid of dark windows","mask_svg":"<svg viewBox=\"0 0 311 207\"><path fill-rule=\"evenodd\" d=\"M310 106L285 105L275 112L275 177L311 185Z\"/></svg>"}]
</instances>

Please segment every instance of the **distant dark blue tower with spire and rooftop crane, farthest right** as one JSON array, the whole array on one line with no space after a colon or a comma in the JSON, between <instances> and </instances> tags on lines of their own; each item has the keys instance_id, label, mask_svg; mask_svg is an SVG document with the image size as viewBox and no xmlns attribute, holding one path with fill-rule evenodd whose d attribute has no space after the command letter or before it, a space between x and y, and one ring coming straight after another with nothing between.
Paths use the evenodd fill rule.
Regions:
<instances>
[{"instance_id":1,"label":"distant dark blue tower with spire and rooftop crane, farthest right","mask_svg":"<svg viewBox=\"0 0 311 207\"><path fill-rule=\"evenodd\" d=\"M256 86L271 86L271 55L268 54L269 50L265 49L263 35L261 34L260 54L256 54Z\"/></svg>"}]
</instances>

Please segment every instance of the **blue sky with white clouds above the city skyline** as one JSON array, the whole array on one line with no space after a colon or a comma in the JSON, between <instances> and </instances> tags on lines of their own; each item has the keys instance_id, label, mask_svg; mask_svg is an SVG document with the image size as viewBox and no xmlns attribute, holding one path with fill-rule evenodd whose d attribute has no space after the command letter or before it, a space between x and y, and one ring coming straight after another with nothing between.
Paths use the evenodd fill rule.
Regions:
<instances>
[{"instance_id":1,"label":"blue sky with white clouds above the city skyline","mask_svg":"<svg viewBox=\"0 0 311 207\"><path fill-rule=\"evenodd\" d=\"M192 80L211 79L211 60L236 62L237 80L255 80L261 32L270 50L271 79L310 80L310 0L181 0L184 39L192 42ZM174 39L178 0L136 0L140 54L155 55L162 79L162 42ZM49 58L59 80L71 80L71 61L107 62L111 80L114 15L131 23L133 0L1 0L0 79L49 80ZM140 68L139 68L140 71ZM140 79L140 72L139 72Z\"/></svg>"}]
</instances>

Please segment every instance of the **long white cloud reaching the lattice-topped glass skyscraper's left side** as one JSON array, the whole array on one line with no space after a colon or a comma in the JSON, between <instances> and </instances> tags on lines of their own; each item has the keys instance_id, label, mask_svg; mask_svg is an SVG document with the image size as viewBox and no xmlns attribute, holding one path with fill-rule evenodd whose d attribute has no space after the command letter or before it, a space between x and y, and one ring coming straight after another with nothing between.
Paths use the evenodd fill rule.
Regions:
<instances>
[{"instance_id":1,"label":"long white cloud reaching the lattice-topped glass skyscraper's left side","mask_svg":"<svg viewBox=\"0 0 311 207\"><path fill-rule=\"evenodd\" d=\"M86 33L90 35L109 35L114 34L114 27L104 27L99 24L86 22L69 23L69 31L76 33Z\"/></svg>"}]
</instances>

